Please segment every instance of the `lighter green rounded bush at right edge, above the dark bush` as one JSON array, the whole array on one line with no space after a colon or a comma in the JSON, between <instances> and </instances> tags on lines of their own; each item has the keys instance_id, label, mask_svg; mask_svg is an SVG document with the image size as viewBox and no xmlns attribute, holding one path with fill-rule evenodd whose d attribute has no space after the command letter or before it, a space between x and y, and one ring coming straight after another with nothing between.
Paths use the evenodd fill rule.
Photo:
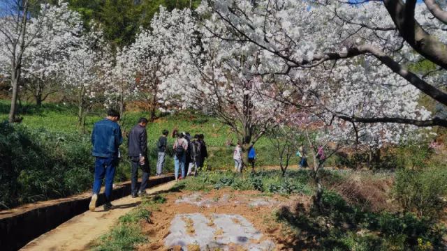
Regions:
<instances>
[{"instance_id":1,"label":"lighter green rounded bush at right edge, above the dark bush","mask_svg":"<svg viewBox=\"0 0 447 251\"><path fill-rule=\"evenodd\" d=\"M441 167L396 172L395 197L406 212L436 218L443 211L447 192L447 170Z\"/></svg>"}]
</instances>

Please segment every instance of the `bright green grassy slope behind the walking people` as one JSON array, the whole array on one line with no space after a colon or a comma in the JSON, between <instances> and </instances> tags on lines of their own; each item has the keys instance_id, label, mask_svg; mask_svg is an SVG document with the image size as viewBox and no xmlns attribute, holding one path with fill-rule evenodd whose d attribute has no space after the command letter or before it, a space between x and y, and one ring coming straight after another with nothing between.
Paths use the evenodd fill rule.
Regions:
<instances>
[{"instance_id":1,"label":"bright green grassy slope behind the walking people","mask_svg":"<svg viewBox=\"0 0 447 251\"><path fill-rule=\"evenodd\" d=\"M9 102L7 100L0 100L0 121L5 121L8 118ZM22 112L20 116L24 119L22 124L29 128L44 128L47 131L54 133L73 133L78 132L76 128L77 116L75 107L57 104L44 104L41 109L36 109L30 105L26 112ZM91 114L87 117L86 130L87 134L91 132L93 124L102 118L103 114L100 112ZM144 112L128 112L122 118L122 128L124 133L129 132L132 126L141 116L148 116ZM233 143L237 142L234 134L228 126L223 125L216 118L211 116L204 116L202 114L173 114L164 116L149 124L147 132L149 134L149 149L151 151L152 163L156 161L156 141L161 135L163 129L170 132L174 128L178 128L184 132L190 132L191 135L196 133L203 133L205 135L205 142L207 142L210 158L207 161L212 169L230 169L233 167L233 147L225 146L229 138L233 138ZM172 145L174 139L168 138L168 143ZM125 152L125 144L122 146L122 151ZM256 151L258 155L258 165L278 165L278 158L276 151L272 148L270 140L263 138L256 143ZM291 163L298 162L298 159L293 157ZM152 165L153 166L153 165ZM173 160L170 158L166 163L168 170L172 169ZM124 178L124 177L123 177Z\"/></svg>"}]
</instances>

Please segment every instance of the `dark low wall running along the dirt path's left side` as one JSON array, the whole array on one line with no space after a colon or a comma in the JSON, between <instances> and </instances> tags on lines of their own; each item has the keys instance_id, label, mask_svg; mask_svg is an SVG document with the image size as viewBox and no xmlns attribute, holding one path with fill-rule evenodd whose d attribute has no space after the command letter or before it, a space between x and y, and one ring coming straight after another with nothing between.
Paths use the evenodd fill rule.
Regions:
<instances>
[{"instance_id":1,"label":"dark low wall running along the dirt path's left side","mask_svg":"<svg viewBox=\"0 0 447 251\"><path fill-rule=\"evenodd\" d=\"M174 176L151 178L149 185L152 187L173 179ZM121 183L113 190L112 200L126 197L130 194L131 183ZM104 194L101 193L98 197L97 205L102 205L104 201ZM10 217L0 218L0 250L19 250L24 245L27 245L29 241L34 240L34 238L87 211L89 202L89 195L78 196L65 201L55 200L54 204L50 203L22 213L13 213Z\"/></svg>"}]
</instances>

